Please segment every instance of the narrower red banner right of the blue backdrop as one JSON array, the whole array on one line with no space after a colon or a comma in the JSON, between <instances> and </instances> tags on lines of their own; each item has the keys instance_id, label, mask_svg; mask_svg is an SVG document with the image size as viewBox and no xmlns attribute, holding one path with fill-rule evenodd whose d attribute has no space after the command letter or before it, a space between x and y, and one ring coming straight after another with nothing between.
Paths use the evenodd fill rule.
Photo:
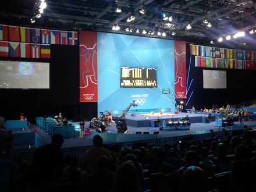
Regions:
<instances>
[{"instance_id":1,"label":"narrower red banner right of the blue backdrop","mask_svg":"<svg viewBox=\"0 0 256 192\"><path fill-rule=\"evenodd\" d=\"M187 67L186 67L186 41L174 41L175 49L175 98L186 98Z\"/></svg>"}]
</instances>

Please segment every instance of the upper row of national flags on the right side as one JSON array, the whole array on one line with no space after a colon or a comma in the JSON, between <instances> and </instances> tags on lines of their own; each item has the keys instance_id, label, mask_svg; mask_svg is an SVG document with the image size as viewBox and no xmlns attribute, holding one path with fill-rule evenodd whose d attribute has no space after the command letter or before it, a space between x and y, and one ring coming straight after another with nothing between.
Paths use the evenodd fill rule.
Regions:
<instances>
[{"instance_id":1,"label":"upper row of national flags on the right side","mask_svg":"<svg viewBox=\"0 0 256 192\"><path fill-rule=\"evenodd\" d=\"M190 44L190 55L205 56L210 58L239 59L256 61L255 51L226 49Z\"/></svg>"}]
</instances>

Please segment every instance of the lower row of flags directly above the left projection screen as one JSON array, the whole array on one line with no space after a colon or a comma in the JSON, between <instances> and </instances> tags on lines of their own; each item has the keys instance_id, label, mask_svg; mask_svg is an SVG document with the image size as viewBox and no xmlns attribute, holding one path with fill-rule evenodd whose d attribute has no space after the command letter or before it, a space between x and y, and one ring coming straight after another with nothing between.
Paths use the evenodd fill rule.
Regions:
<instances>
[{"instance_id":1,"label":"lower row of flags directly above the left projection screen","mask_svg":"<svg viewBox=\"0 0 256 192\"><path fill-rule=\"evenodd\" d=\"M51 58L50 44L0 41L0 56L15 58Z\"/></svg>"}]
</instances>

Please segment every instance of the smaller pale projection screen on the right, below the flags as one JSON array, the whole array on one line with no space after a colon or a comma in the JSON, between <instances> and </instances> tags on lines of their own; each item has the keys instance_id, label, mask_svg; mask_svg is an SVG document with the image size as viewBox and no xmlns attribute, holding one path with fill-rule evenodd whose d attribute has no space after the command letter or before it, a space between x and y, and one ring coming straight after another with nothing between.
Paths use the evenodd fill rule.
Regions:
<instances>
[{"instance_id":1,"label":"smaller pale projection screen on the right, below the flags","mask_svg":"<svg viewBox=\"0 0 256 192\"><path fill-rule=\"evenodd\" d=\"M203 70L204 88L227 88L225 70Z\"/></svg>"}]
</instances>

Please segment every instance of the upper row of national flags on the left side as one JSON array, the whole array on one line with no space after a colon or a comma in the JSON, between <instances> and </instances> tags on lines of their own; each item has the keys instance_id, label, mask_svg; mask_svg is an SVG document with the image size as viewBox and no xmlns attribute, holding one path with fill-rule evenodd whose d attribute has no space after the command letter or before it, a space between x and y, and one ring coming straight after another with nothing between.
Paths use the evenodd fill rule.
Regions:
<instances>
[{"instance_id":1,"label":"upper row of national flags on the left side","mask_svg":"<svg viewBox=\"0 0 256 192\"><path fill-rule=\"evenodd\" d=\"M34 29L0 24L0 40L37 44L78 45L77 31Z\"/></svg>"}]
</instances>

